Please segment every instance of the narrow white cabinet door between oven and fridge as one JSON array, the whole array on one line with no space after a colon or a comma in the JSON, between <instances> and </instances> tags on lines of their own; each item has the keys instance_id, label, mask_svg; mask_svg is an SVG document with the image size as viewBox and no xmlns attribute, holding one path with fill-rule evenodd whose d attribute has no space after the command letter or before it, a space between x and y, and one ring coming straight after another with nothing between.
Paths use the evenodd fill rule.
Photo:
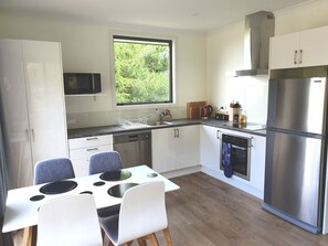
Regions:
<instances>
[{"instance_id":1,"label":"narrow white cabinet door between oven and fridge","mask_svg":"<svg viewBox=\"0 0 328 246\"><path fill-rule=\"evenodd\" d=\"M265 137L252 136L250 182L252 186L261 191L264 191L265 145Z\"/></svg>"}]
</instances>

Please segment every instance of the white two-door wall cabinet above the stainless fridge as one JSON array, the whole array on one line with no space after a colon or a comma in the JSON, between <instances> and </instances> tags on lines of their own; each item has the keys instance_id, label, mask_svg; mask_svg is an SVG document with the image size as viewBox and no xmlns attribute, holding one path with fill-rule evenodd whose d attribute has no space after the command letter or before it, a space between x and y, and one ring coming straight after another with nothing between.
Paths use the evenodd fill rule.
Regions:
<instances>
[{"instance_id":1,"label":"white two-door wall cabinet above the stainless fridge","mask_svg":"<svg viewBox=\"0 0 328 246\"><path fill-rule=\"evenodd\" d=\"M269 68L328 65L328 26L271 38Z\"/></svg>"}]
</instances>

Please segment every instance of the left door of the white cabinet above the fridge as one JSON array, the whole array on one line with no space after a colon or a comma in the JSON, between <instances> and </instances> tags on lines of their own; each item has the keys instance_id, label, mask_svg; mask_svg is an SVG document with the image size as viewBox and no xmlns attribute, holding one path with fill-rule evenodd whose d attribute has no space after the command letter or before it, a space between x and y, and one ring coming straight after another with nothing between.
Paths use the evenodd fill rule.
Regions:
<instances>
[{"instance_id":1,"label":"left door of the white cabinet above the fridge","mask_svg":"<svg viewBox=\"0 0 328 246\"><path fill-rule=\"evenodd\" d=\"M297 52L297 53L296 53ZM269 68L298 66L299 33L290 33L269 39Z\"/></svg>"}]
</instances>

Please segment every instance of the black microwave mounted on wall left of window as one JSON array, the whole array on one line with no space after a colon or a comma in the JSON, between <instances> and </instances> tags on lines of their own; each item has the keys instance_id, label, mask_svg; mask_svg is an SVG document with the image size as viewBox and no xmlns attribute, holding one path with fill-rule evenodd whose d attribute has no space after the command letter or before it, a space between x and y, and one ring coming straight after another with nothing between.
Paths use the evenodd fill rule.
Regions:
<instances>
[{"instance_id":1,"label":"black microwave mounted on wall left of window","mask_svg":"<svg viewBox=\"0 0 328 246\"><path fill-rule=\"evenodd\" d=\"M64 73L64 92L65 95L100 93L100 74Z\"/></svg>"}]
</instances>

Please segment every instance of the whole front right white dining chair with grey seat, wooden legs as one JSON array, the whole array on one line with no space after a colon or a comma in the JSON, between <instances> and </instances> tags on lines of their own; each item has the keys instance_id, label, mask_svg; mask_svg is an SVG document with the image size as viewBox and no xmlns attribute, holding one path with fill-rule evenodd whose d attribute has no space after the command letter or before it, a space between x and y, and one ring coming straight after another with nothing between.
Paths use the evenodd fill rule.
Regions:
<instances>
[{"instance_id":1,"label":"whole front right white dining chair with grey seat, wooden legs","mask_svg":"<svg viewBox=\"0 0 328 246\"><path fill-rule=\"evenodd\" d=\"M171 245L165 204L165 184L162 181L136 185L123 196L118 215L100 221L109 238L109 245L131 245L138 239L139 245L158 245L155 233L163 231L167 245Z\"/></svg>"}]
</instances>

